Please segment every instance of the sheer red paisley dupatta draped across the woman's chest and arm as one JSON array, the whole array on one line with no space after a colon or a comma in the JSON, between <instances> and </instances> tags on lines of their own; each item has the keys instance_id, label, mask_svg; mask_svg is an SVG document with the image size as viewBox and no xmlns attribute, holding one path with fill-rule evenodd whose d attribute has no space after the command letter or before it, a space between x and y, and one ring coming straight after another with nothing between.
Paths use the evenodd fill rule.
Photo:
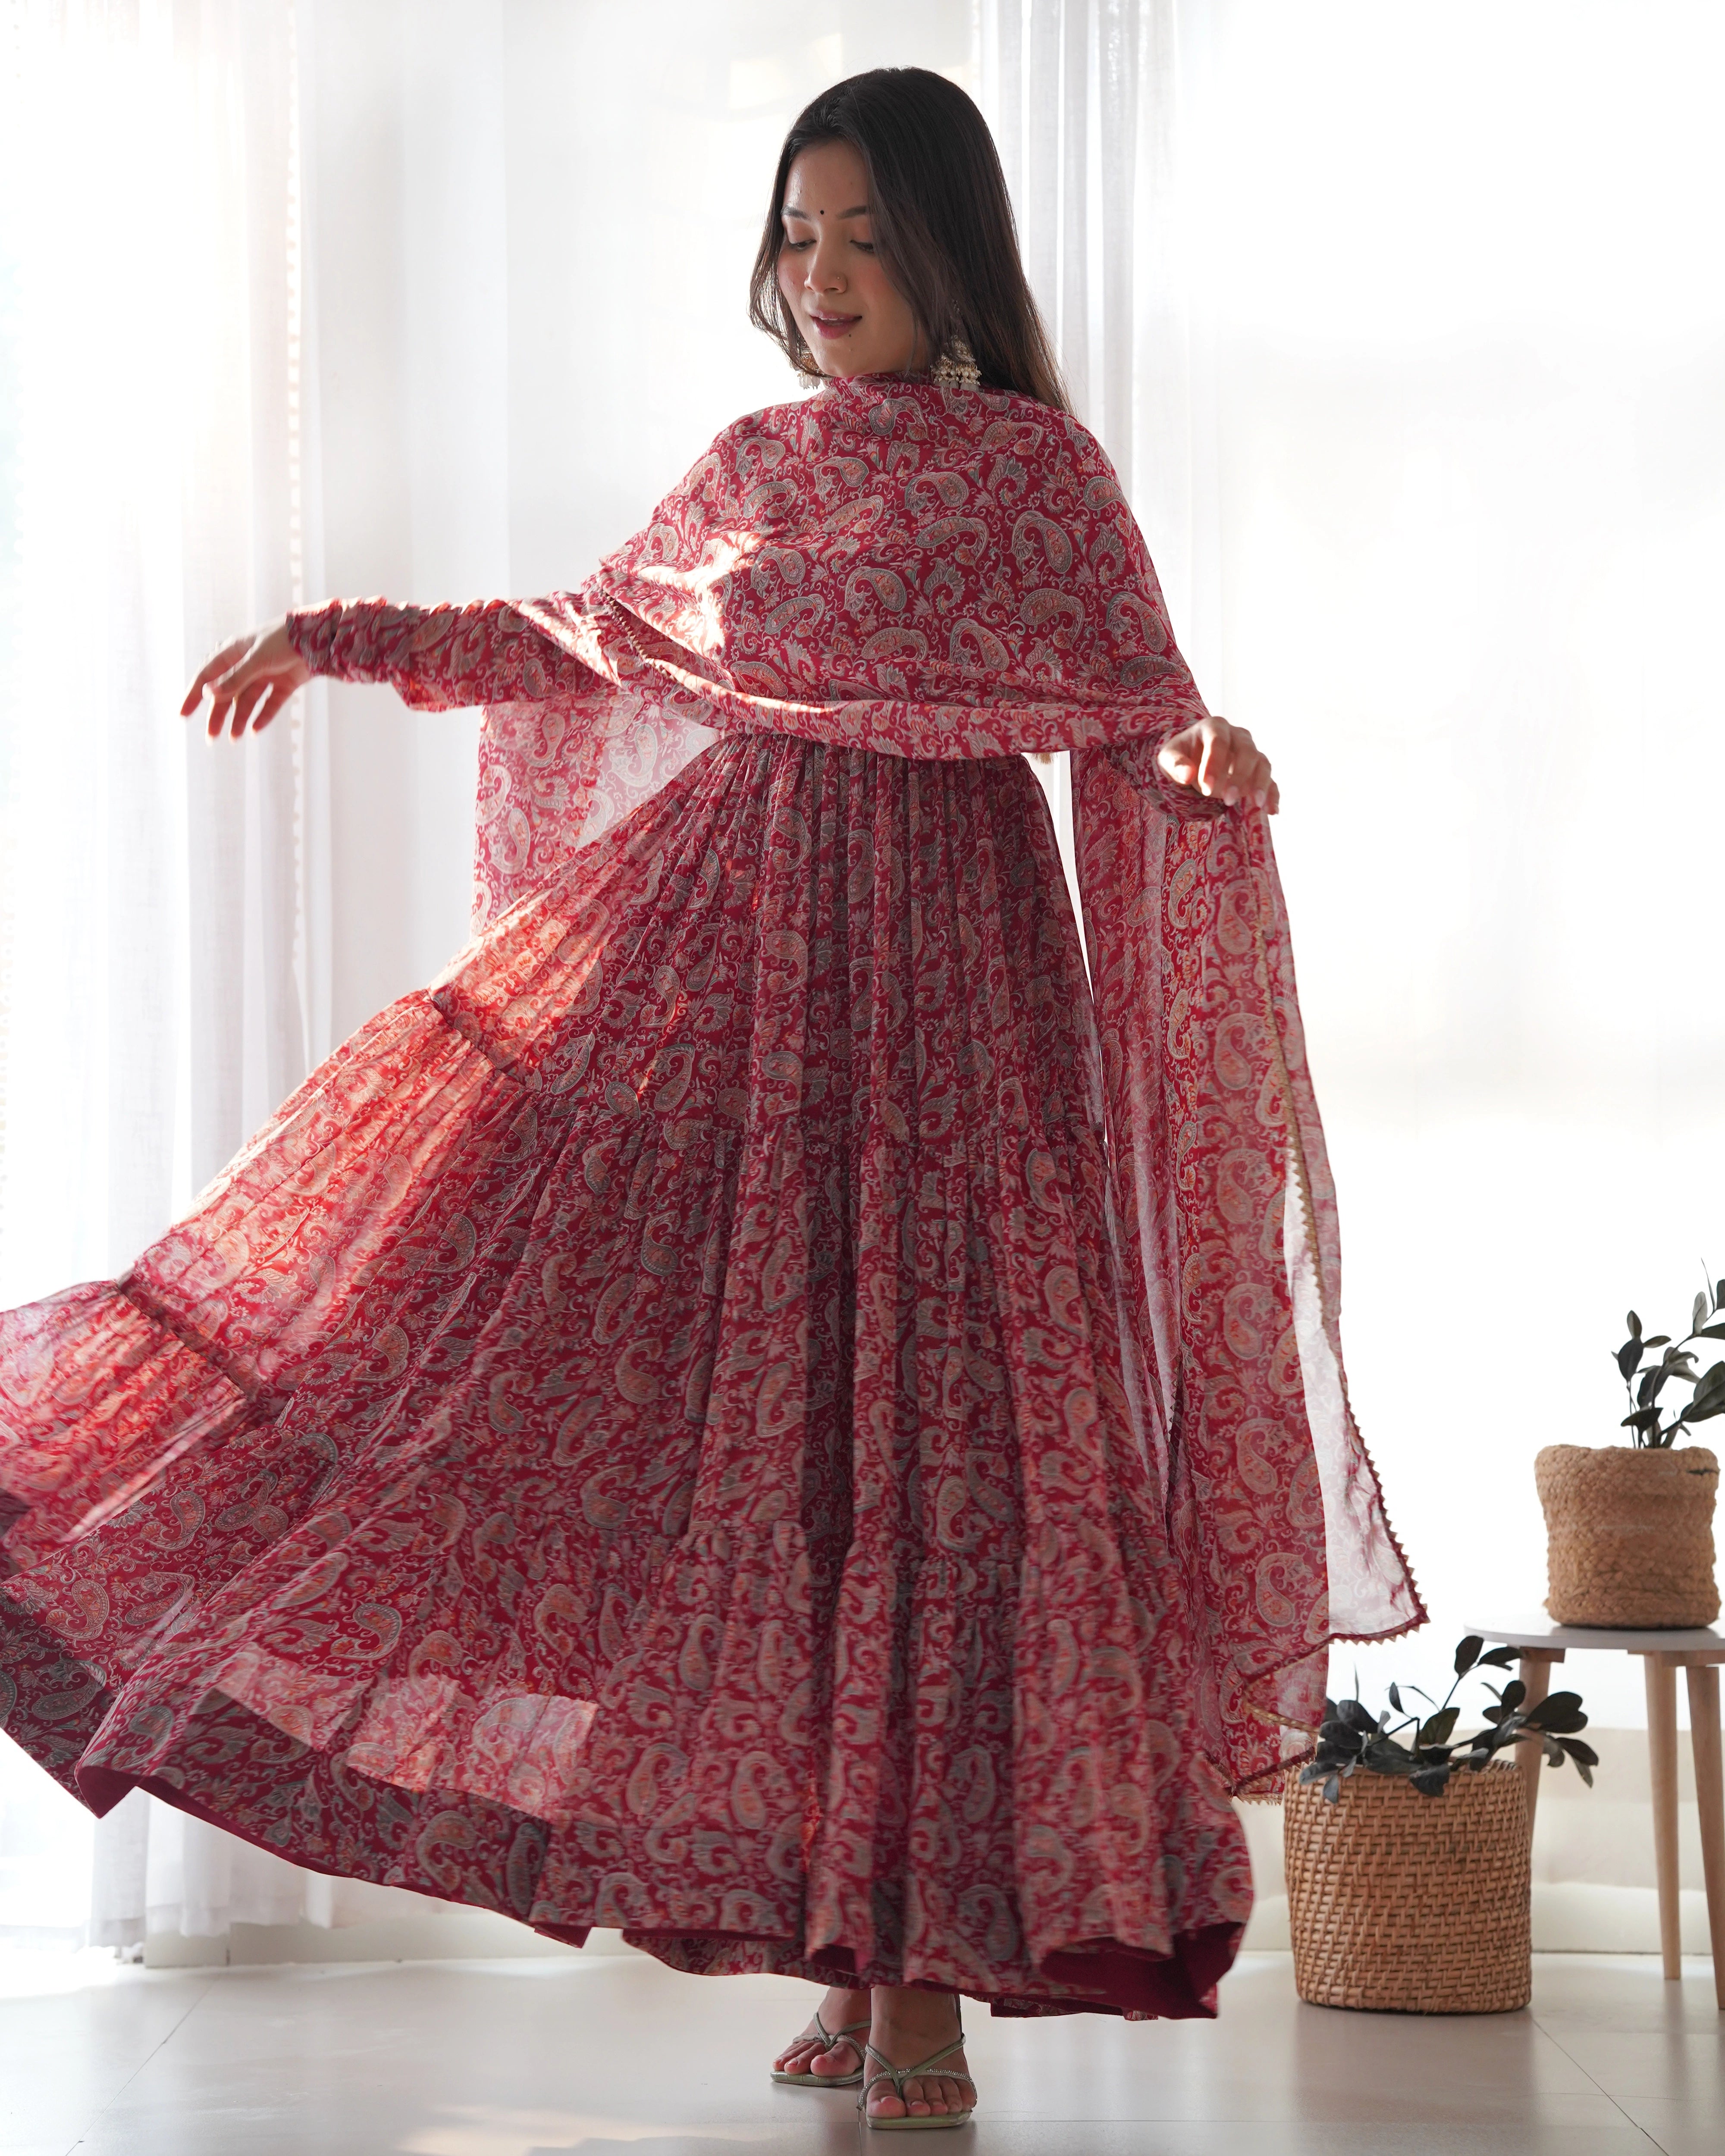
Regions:
<instances>
[{"instance_id":1,"label":"sheer red paisley dupatta draped across the woman's chest and arm","mask_svg":"<svg viewBox=\"0 0 1725 2156\"><path fill-rule=\"evenodd\" d=\"M580 593L593 690L494 707L483 925L714 731L1072 748L1132 1410L1231 1787L1307 1749L1333 1639L1423 1621L1354 1425L1339 1240L1261 815L1173 787L1203 703L1095 442L1022 397L832 386L731 427Z\"/></svg>"}]
</instances>

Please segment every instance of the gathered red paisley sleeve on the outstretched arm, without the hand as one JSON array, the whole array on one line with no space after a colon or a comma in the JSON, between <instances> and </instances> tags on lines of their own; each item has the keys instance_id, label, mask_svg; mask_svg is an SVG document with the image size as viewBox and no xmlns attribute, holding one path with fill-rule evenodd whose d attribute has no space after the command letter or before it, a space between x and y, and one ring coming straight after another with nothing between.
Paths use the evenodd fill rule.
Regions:
<instances>
[{"instance_id":1,"label":"gathered red paisley sleeve on the outstretched arm, without the hand","mask_svg":"<svg viewBox=\"0 0 1725 2156\"><path fill-rule=\"evenodd\" d=\"M330 599L289 614L287 634L313 673L388 681L403 703L423 711L539 703L602 686L507 599L481 606Z\"/></svg>"}]
</instances>

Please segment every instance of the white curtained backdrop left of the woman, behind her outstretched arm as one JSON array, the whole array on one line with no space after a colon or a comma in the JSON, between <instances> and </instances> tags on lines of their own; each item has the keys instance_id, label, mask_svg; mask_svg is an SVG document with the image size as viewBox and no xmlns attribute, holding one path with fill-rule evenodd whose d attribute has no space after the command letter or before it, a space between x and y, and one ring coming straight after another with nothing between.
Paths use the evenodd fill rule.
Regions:
<instances>
[{"instance_id":1,"label":"white curtained backdrop left of the woman, behind her outstretched arm","mask_svg":"<svg viewBox=\"0 0 1725 2156\"><path fill-rule=\"evenodd\" d=\"M464 940L470 714L179 690L295 597L576 582L783 397L744 287L783 129L964 75L968 0L4 0L0 1291L112 1272ZM690 326L699 323L699 330ZM0 1934L397 1906L0 1744ZM425 1904L412 1902L416 1910ZM399 1947L392 1951L401 1951Z\"/></svg>"}]
</instances>

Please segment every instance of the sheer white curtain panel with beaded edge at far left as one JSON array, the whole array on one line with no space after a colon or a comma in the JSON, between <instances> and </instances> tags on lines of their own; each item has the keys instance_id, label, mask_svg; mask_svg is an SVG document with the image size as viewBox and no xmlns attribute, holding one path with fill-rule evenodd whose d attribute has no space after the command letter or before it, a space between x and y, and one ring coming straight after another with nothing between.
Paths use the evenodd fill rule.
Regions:
<instances>
[{"instance_id":1,"label":"sheer white curtain panel with beaded edge at far left","mask_svg":"<svg viewBox=\"0 0 1725 2156\"><path fill-rule=\"evenodd\" d=\"M175 716L222 638L321 584L302 6L9 11L4 1304L123 1268L328 1048L323 692L246 752ZM0 1878L43 1837L6 1753ZM60 1874L86 1833L56 1822ZM97 1830L97 1940L142 1936L147 1863L166 1930L304 1902L289 1867L140 1805ZM73 1871L50 1930L78 1902ZM0 1932L39 1917L0 1891Z\"/></svg>"}]
</instances>

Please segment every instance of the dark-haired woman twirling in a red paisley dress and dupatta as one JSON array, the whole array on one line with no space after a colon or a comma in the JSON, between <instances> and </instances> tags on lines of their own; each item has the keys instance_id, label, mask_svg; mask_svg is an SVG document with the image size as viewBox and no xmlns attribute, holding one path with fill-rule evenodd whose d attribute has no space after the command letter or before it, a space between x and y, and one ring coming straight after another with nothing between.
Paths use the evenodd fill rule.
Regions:
<instances>
[{"instance_id":1,"label":"dark-haired woman twirling in a red paisley dress and dupatta","mask_svg":"<svg viewBox=\"0 0 1725 2156\"><path fill-rule=\"evenodd\" d=\"M9 1727L300 1863L826 1996L1210 2014L1227 1792L1419 1621L1346 1410L1251 735L1067 414L975 106L796 123L727 429L578 593L218 653L485 703L474 944L0 1326ZM1074 750L1091 983L1020 750ZM867 2076L867 2078L865 2078Z\"/></svg>"}]
</instances>

